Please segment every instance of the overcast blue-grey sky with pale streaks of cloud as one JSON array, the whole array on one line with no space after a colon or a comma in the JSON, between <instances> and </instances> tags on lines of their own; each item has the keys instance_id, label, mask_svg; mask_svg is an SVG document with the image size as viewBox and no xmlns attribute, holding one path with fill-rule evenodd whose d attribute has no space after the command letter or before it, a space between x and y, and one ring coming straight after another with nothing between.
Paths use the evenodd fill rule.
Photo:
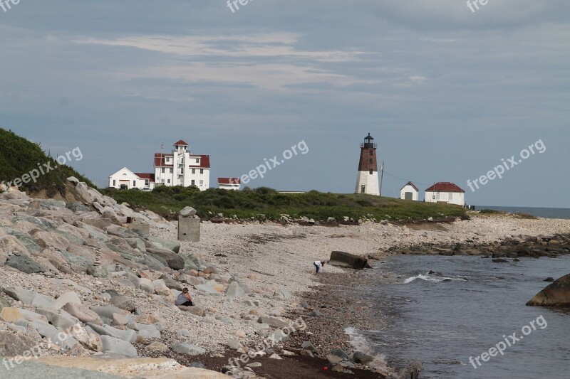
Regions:
<instances>
[{"instance_id":1,"label":"overcast blue-grey sky with pale streaks of cloud","mask_svg":"<svg viewBox=\"0 0 570 379\"><path fill-rule=\"evenodd\" d=\"M452 181L470 204L570 208L570 1L479 7L21 0L0 8L0 126L52 154L80 147L71 165L98 185L151 172L162 142L209 154L217 186L304 141L249 186L336 193L354 191L370 132L385 196Z\"/></svg>"}]
</instances>

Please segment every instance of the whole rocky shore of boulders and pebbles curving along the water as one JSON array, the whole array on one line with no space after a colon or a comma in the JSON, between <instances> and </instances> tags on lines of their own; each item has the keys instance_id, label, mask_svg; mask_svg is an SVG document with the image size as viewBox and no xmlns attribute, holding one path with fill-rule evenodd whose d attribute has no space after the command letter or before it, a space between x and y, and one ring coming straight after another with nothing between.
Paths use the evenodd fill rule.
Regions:
<instances>
[{"instance_id":1,"label":"whole rocky shore of boulders and pebbles curving along the water","mask_svg":"<svg viewBox=\"0 0 570 379\"><path fill-rule=\"evenodd\" d=\"M35 348L54 365L104 359L109 373L123 377L140 373L113 368L116 358L147 356L158 361L133 364L144 372L160 362L153 378L182 375L185 366L195 366L187 368L195 378L216 378L202 367L249 379L383 378L395 374L356 351L345 333L347 326L378 329L370 306L346 296L361 272L326 265L315 275L312 262L334 250L374 259L569 251L570 220L508 217L425 225L204 222L200 242L178 242L175 223L70 183L81 202L28 198L15 188L0 194L1 357ZM174 305L183 287L195 306ZM58 341L59 333L68 337ZM260 350L268 338L274 342ZM228 367L252 348L263 354ZM380 372L365 370L372 366Z\"/></svg>"}]
</instances>

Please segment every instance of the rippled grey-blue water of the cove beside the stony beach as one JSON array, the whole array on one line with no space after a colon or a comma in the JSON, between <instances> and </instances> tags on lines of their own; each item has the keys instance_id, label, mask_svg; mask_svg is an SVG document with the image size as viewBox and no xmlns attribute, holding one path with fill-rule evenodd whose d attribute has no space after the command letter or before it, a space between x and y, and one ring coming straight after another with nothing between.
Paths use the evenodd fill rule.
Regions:
<instances>
[{"instance_id":1,"label":"rippled grey-blue water of the cove beside the stony beach","mask_svg":"<svg viewBox=\"0 0 570 379\"><path fill-rule=\"evenodd\" d=\"M365 273L368 284L358 291L384 326L351 333L390 365L421 363L420 378L570 378L570 310L524 305L549 284L546 277L569 273L570 256L512 263L390 257ZM512 333L522 338L512 343ZM475 357L501 342L502 355L477 364Z\"/></svg>"}]
</instances>

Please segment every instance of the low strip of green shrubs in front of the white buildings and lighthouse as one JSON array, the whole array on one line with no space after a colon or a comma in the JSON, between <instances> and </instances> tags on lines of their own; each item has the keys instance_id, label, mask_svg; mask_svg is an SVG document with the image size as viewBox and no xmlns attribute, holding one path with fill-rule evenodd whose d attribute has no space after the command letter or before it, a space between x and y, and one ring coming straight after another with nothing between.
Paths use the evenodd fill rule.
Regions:
<instances>
[{"instance_id":1,"label":"low strip of green shrubs in front of the white buildings and lighthouse","mask_svg":"<svg viewBox=\"0 0 570 379\"><path fill-rule=\"evenodd\" d=\"M307 193L279 193L272 188L255 188L249 191L227 191L209 188L160 186L152 192L103 191L119 203L126 201L138 208L150 209L163 216L172 215L185 206L197 210L200 218L208 220L217 213L240 219L279 220L281 215L291 218L303 216L315 220L329 217L343 221L345 217L380 220L423 220L427 218L465 217L465 210L457 205L401 201L395 198L363 194L336 194L309 191Z\"/></svg>"}]
</instances>

